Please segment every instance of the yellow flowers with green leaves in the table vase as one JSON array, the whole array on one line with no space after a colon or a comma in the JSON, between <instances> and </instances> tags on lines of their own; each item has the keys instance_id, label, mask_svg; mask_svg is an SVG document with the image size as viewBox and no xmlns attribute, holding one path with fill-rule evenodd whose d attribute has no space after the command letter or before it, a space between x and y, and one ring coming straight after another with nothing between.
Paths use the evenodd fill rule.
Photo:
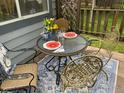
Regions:
<instances>
[{"instance_id":1,"label":"yellow flowers with green leaves in the table vase","mask_svg":"<svg viewBox=\"0 0 124 93\"><path fill-rule=\"evenodd\" d=\"M43 23L48 31L57 31L59 29L58 25L55 23L55 18L46 18L44 19Z\"/></svg>"}]
</instances>

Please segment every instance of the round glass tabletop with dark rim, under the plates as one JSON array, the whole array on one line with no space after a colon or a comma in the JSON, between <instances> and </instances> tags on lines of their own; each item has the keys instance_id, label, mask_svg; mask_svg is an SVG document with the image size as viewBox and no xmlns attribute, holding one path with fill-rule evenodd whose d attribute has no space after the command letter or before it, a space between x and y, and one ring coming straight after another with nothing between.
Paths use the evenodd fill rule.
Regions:
<instances>
[{"instance_id":1,"label":"round glass tabletop with dark rim, under the plates","mask_svg":"<svg viewBox=\"0 0 124 93\"><path fill-rule=\"evenodd\" d=\"M61 46L56 49L56 50L49 50L43 47L43 44L46 43L47 41L44 40L42 37L37 40L37 47L44 52L45 54L48 55L53 55L53 56L71 56L78 54L89 45L88 41L78 35L76 38L73 39L67 39L64 38L61 43Z\"/></svg>"}]
</instances>

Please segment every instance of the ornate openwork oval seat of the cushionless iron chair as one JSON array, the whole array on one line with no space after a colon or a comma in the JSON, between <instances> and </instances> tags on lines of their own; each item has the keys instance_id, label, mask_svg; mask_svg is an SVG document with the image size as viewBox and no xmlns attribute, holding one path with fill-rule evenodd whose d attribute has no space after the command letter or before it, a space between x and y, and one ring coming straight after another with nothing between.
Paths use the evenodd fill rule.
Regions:
<instances>
[{"instance_id":1,"label":"ornate openwork oval seat of the cushionless iron chair","mask_svg":"<svg viewBox=\"0 0 124 93\"><path fill-rule=\"evenodd\" d=\"M92 87L102 67L102 60L96 56L82 56L71 61L61 73L62 91L67 87Z\"/></svg>"}]
</instances>

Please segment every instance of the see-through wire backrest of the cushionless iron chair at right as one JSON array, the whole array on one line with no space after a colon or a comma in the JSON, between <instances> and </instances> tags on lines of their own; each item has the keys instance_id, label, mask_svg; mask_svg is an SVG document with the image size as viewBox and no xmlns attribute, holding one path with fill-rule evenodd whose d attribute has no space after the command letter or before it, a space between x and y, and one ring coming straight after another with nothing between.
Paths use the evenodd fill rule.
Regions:
<instances>
[{"instance_id":1,"label":"see-through wire backrest of the cushionless iron chair at right","mask_svg":"<svg viewBox=\"0 0 124 93\"><path fill-rule=\"evenodd\" d=\"M107 57L106 64L112 58L112 51L118 45L118 41L119 41L119 32L118 31L106 32L104 34L104 36L102 38L102 43L101 43L101 48L104 49L104 51L100 50L100 55L101 55L101 57L104 57L104 58Z\"/></svg>"}]
</instances>

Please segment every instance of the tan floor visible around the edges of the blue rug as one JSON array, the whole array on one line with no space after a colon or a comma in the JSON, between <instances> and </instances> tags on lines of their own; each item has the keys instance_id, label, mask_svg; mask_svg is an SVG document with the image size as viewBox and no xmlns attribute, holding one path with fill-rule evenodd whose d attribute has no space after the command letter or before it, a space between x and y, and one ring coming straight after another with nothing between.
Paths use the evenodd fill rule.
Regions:
<instances>
[{"instance_id":1,"label":"tan floor visible around the edges of the blue rug","mask_svg":"<svg viewBox=\"0 0 124 93\"><path fill-rule=\"evenodd\" d=\"M97 48L87 48L89 51ZM104 50L102 50L104 53ZM124 54L112 52L113 58L119 60L119 68L118 68L118 76L117 76L117 85L116 85L116 92L115 93L124 93ZM45 54L40 54L35 60L38 62L42 58L44 58Z\"/></svg>"}]
</instances>

